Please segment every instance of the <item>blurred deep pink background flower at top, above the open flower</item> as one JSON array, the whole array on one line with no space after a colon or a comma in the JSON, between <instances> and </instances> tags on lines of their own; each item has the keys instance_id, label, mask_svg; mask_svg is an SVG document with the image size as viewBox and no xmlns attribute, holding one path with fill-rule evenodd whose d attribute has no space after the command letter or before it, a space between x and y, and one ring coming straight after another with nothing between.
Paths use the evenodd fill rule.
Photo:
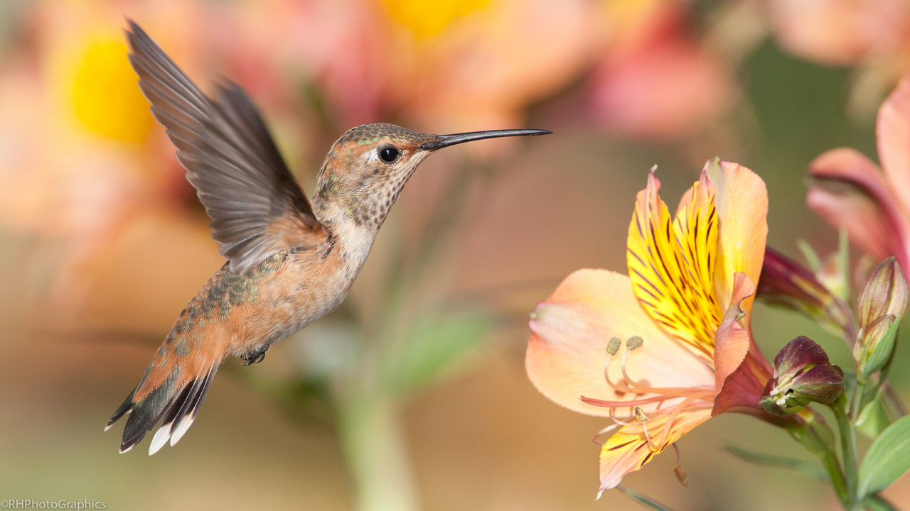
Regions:
<instances>
[{"instance_id":1,"label":"blurred deep pink background flower at top, above the open flower","mask_svg":"<svg viewBox=\"0 0 910 511\"><path fill-rule=\"evenodd\" d=\"M691 35L682 3L607 5L610 37L591 78L593 105L607 129L681 138L733 105L737 92L731 71Z\"/></svg>"}]
</instances>

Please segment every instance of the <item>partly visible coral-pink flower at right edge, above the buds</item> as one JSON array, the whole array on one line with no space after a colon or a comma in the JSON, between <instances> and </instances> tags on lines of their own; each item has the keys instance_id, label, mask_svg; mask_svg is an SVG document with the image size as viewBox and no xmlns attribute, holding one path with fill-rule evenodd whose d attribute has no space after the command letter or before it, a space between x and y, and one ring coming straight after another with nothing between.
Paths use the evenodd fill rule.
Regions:
<instances>
[{"instance_id":1,"label":"partly visible coral-pink flower at right edge, above the buds","mask_svg":"<svg viewBox=\"0 0 910 511\"><path fill-rule=\"evenodd\" d=\"M864 252L910 268L910 76L879 108L875 136L884 173L855 149L832 149L809 164L806 202Z\"/></svg>"}]
</instances>

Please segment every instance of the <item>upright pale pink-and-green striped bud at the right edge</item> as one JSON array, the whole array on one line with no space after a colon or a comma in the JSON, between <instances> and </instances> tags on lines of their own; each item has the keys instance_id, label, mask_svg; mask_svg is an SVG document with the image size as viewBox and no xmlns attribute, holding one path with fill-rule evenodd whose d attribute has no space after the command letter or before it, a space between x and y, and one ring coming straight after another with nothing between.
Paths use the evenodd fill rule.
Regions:
<instances>
[{"instance_id":1,"label":"upright pale pink-and-green striped bud at the right edge","mask_svg":"<svg viewBox=\"0 0 910 511\"><path fill-rule=\"evenodd\" d=\"M889 257L875 268L859 295L859 334L854 345L856 377L865 381L881 370L895 349L897 326L907 310L904 272Z\"/></svg>"}]
</instances>

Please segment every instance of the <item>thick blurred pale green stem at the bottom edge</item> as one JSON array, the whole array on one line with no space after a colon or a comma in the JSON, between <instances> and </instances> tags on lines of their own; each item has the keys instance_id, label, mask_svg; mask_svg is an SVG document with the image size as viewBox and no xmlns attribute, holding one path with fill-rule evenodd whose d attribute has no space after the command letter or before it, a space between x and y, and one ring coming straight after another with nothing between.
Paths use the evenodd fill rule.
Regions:
<instances>
[{"instance_id":1,"label":"thick blurred pale green stem at the bottom edge","mask_svg":"<svg viewBox=\"0 0 910 511\"><path fill-rule=\"evenodd\" d=\"M354 508L417 510L398 406L381 396L349 399L340 406L339 436L354 484Z\"/></svg>"}]
</instances>

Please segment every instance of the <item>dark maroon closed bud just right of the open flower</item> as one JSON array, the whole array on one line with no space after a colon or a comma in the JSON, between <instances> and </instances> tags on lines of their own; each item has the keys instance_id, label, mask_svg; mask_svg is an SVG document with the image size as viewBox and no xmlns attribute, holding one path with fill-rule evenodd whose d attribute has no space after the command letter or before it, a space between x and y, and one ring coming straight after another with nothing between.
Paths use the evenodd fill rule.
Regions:
<instances>
[{"instance_id":1,"label":"dark maroon closed bud just right of the open flower","mask_svg":"<svg viewBox=\"0 0 910 511\"><path fill-rule=\"evenodd\" d=\"M844 389L844 373L809 337L799 336L774 357L774 376L759 400L765 411L788 416L809 403L829 404Z\"/></svg>"}]
</instances>

